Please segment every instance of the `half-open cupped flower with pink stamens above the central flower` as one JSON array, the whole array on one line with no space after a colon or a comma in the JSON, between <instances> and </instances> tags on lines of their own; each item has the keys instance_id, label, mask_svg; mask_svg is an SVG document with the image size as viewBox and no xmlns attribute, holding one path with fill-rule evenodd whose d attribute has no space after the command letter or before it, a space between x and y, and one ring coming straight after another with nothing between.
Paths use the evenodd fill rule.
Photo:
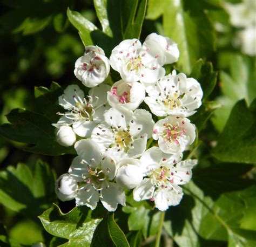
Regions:
<instances>
[{"instance_id":1,"label":"half-open cupped flower with pink stamens above the central flower","mask_svg":"<svg viewBox=\"0 0 256 247\"><path fill-rule=\"evenodd\" d=\"M144 86L140 83L126 83L119 80L113 84L110 92L107 92L107 101L112 107L123 106L126 109L134 110L145 98Z\"/></svg>"}]
</instances>

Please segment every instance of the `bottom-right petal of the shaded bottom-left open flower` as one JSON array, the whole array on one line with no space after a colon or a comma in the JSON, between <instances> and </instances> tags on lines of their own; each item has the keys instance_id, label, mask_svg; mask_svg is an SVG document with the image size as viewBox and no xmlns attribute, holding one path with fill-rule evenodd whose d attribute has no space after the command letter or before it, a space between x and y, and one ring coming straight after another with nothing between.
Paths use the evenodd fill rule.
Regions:
<instances>
[{"instance_id":1,"label":"bottom-right petal of the shaded bottom-left open flower","mask_svg":"<svg viewBox=\"0 0 256 247\"><path fill-rule=\"evenodd\" d=\"M118 203L125 205L124 191L116 183L109 183L109 187L102 190L102 196L103 198L100 198L100 201L110 212L117 209Z\"/></svg>"}]
</instances>

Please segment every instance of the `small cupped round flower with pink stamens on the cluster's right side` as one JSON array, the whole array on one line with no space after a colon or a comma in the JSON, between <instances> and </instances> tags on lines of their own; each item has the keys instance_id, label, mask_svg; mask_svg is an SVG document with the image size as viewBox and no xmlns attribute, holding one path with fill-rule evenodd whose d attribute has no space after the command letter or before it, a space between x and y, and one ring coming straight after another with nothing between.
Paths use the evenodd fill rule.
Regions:
<instances>
[{"instance_id":1,"label":"small cupped round flower with pink stamens on the cluster's right side","mask_svg":"<svg viewBox=\"0 0 256 247\"><path fill-rule=\"evenodd\" d=\"M196 127L187 118L167 116L154 125L152 137L167 154L183 152L196 138Z\"/></svg>"}]
</instances>

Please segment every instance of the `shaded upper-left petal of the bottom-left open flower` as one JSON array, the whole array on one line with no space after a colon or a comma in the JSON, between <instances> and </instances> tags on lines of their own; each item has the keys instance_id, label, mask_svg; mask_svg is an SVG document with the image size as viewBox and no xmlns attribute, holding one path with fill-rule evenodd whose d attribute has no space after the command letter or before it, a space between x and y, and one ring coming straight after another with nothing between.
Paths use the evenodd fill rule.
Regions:
<instances>
[{"instance_id":1,"label":"shaded upper-left petal of the bottom-left open flower","mask_svg":"<svg viewBox=\"0 0 256 247\"><path fill-rule=\"evenodd\" d=\"M99 146L90 139L76 142L75 149L77 154L88 163L99 164L102 159Z\"/></svg>"}]
</instances>

